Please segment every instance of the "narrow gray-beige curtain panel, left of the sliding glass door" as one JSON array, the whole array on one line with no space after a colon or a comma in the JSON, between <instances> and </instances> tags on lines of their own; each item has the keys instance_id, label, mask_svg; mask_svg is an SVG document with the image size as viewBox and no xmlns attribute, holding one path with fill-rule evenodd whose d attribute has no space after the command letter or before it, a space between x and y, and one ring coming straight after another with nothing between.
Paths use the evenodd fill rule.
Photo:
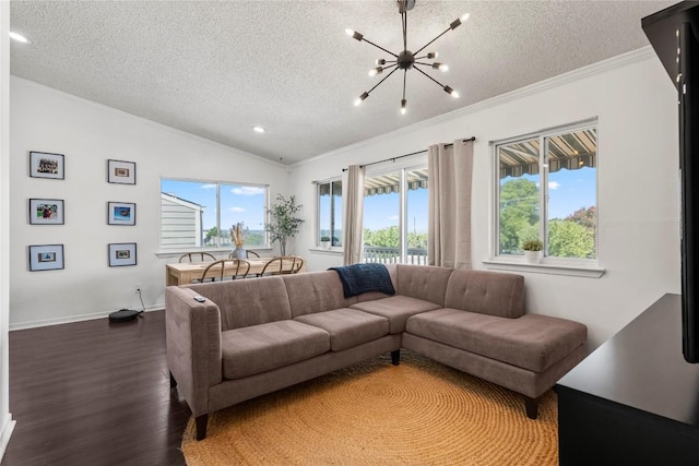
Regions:
<instances>
[{"instance_id":1,"label":"narrow gray-beige curtain panel, left of the sliding glass door","mask_svg":"<svg viewBox=\"0 0 699 466\"><path fill-rule=\"evenodd\" d=\"M351 165L345 171L342 186L345 187L343 215L343 262L357 264L363 260L363 215L364 215L364 167Z\"/></svg>"}]
</instances>

